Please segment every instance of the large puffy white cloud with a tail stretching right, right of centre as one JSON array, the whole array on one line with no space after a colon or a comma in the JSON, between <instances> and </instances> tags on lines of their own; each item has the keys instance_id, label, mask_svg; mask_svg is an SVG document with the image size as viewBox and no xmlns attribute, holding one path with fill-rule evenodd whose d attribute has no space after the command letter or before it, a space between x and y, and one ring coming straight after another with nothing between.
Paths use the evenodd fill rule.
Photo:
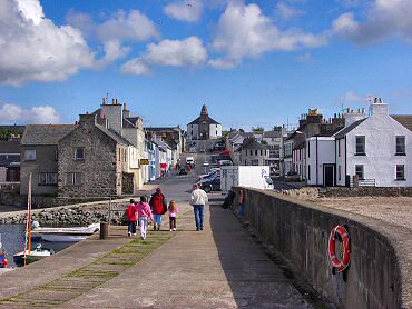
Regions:
<instances>
[{"instance_id":1,"label":"large puffy white cloud with a tail stretching right, right of centre","mask_svg":"<svg viewBox=\"0 0 412 309\"><path fill-rule=\"evenodd\" d=\"M316 48L325 43L323 36L279 30L257 4L230 2L219 19L213 48L226 53L227 59L241 62L245 57L257 58L268 51Z\"/></svg>"}]
</instances>

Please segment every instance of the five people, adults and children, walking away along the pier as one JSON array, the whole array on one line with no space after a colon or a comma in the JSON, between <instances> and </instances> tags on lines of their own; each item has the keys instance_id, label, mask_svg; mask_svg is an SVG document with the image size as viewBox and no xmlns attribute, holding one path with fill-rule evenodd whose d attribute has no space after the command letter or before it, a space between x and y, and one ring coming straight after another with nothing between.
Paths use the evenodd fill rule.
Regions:
<instances>
[{"instance_id":1,"label":"five people, adults and children, walking away along the pier","mask_svg":"<svg viewBox=\"0 0 412 309\"><path fill-rule=\"evenodd\" d=\"M208 197L204 190L199 188L197 183L193 185L193 191L190 195L189 203L193 206L195 213L196 230L202 231L204 229L205 221L205 205L208 202ZM146 239L147 227L149 222L153 222L153 229L160 230L163 225L163 215L168 213L169 217L169 230L176 231L176 217L179 212L176 201L171 200L167 205L166 198L161 192L160 188L156 189L156 192L151 195L149 202L145 196L140 197L140 201L135 199L130 200L130 205L126 210L126 215L129 221L128 236L136 236L137 225L140 227L140 237Z\"/></svg>"}]
</instances>

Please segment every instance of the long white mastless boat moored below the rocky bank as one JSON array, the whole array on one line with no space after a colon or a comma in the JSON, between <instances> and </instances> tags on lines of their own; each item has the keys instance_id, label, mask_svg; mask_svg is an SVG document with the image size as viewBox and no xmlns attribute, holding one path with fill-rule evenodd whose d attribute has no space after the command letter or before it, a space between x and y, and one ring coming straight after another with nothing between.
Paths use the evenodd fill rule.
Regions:
<instances>
[{"instance_id":1,"label":"long white mastless boat moored below the rocky bank","mask_svg":"<svg viewBox=\"0 0 412 309\"><path fill-rule=\"evenodd\" d=\"M99 223L92 223L88 227L47 228L40 227L40 225L35 221L31 235L35 238L41 238L43 241L77 242L86 239L90 235L97 232L99 229Z\"/></svg>"}]
</instances>

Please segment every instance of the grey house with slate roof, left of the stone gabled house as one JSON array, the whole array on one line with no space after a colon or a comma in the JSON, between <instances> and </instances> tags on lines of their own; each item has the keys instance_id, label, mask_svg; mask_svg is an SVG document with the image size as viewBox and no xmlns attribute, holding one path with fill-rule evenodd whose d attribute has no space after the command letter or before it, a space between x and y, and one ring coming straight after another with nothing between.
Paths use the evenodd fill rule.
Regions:
<instances>
[{"instance_id":1,"label":"grey house with slate roof, left of the stone gabled house","mask_svg":"<svg viewBox=\"0 0 412 309\"><path fill-rule=\"evenodd\" d=\"M32 175L33 195L55 195L58 186L58 142L77 126L33 124L27 126L21 139L20 193L29 190Z\"/></svg>"}]
</instances>

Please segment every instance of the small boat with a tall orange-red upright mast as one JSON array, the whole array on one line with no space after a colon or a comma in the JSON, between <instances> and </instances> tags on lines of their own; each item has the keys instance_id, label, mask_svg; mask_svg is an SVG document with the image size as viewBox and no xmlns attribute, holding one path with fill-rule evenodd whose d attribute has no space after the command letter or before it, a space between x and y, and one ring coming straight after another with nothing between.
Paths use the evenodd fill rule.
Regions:
<instances>
[{"instance_id":1,"label":"small boat with a tall orange-red upright mast","mask_svg":"<svg viewBox=\"0 0 412 309\"><path fill-rule=\"evenodd\" d=\"M55 255L53 250L41 248L41 245L38 245L35 250L31 249L31 172L29 176L29 193L27 196L27 220L24 238L24 250L13 255L13 261L16 266L27 266L42 258Z\"/></svg>"}]
</instances>

